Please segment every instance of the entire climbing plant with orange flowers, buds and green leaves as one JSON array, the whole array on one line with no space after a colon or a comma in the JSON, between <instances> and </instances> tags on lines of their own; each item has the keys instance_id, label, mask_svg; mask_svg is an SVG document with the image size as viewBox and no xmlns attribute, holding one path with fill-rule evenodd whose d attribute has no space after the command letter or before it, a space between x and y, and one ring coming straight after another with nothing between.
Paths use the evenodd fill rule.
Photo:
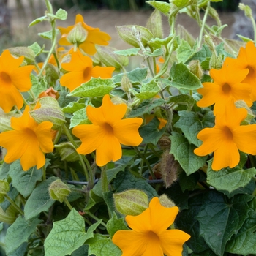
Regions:
<instances>
[{"instance_id":1,"label":"entire climbing plant with orange flowers, buds and green leaves","mask_svg":"<svg viewBox=\"0 0 256 256\"><path fill-rule=\"evenodd\" d=\"M29 26L50 23L50 48L1 53L7 256L255 255L256 31L222 38L211 1L146 1L145 27L116 27L131 45L118 50L80 14L56 27L67 12L45 0Z\"/></svg>"}]
</instances>

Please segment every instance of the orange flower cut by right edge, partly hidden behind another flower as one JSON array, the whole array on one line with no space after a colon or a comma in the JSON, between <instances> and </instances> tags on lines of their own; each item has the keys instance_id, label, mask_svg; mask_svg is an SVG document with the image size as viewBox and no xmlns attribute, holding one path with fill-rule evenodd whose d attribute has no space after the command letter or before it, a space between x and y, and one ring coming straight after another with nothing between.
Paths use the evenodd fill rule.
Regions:
<instances>
[{"instance_id":1,"label":"orange flower cut by right edge, partly hidden behind another flower","mask_svg":"<svg viewBox=\"0 0 256 256\"><path fill-rule=\"evenodd\" d=\"M233 61L239 69L249 69L248 75L242 81L242 83L249 83L252 85L252 101L256 100L256 47L254 42L250 41L246 43L246 47L241 47L236 59L230 59Z\"/></svg>"}]
</instances>

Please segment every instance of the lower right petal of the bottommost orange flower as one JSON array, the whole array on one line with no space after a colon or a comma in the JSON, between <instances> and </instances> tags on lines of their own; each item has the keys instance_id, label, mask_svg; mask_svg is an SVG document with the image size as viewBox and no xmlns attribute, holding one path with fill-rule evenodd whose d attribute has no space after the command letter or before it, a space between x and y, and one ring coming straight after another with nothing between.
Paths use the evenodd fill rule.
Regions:
<instances>
[{"instance_id":1,"label":"lower right petal of the bottommost orange flower","mask_svg":"<svg viewBox=\"0 0 256 256\"><path fill-rule=\"evenodd\" d=\"M159 238L165 255L181 256L182 246L190 236L181 230L165 230L159 234Z\"/></svg>"}]
</instances>

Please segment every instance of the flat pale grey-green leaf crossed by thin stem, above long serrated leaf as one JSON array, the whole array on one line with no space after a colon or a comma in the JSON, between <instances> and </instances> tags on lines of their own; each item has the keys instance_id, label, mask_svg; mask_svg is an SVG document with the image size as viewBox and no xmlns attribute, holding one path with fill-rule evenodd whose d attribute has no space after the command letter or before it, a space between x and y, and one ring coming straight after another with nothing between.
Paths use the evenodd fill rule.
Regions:
<instances>
[{"instance_id":1,"label":"flat pale grey-green leaf crossed by thin stem, above long serrated leaf","mask_svg":"<svg viewBox=\"0 0 256 256\"><path fill-rule=\"evenodd\" d=\"M148 68L144 67L143 69L140 69L137 67L136 69L133 69L130 72L125 73L127 75L127 78L129 78L131 83L141 83L142 80L146 78L146 75L148 74ZM124 73L114 75L113 76L113 82L121 84L121 79L123 78Z\"/></svg>"}]
</instances>

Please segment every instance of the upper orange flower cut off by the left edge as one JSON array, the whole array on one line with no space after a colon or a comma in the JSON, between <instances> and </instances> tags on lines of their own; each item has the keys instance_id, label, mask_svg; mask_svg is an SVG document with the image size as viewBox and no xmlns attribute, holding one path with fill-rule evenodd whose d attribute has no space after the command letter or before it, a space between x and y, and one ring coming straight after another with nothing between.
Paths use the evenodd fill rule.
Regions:
<instances>
[{"instance_id":1,"label":"upper orange flower cut off by the left edge","mask_svg":"<svg viewBox=\"0 0 256 256\"><path fill-rule=\"evenodd\" d=\"M5 113L10 112L15 105L23 107L23 97L20 91L31 89L30 73L33 65L20 67L24 56L18 59L12 57L9 50L4 50L0 56L0 107Z\"/></svg>"}]
</instances>

